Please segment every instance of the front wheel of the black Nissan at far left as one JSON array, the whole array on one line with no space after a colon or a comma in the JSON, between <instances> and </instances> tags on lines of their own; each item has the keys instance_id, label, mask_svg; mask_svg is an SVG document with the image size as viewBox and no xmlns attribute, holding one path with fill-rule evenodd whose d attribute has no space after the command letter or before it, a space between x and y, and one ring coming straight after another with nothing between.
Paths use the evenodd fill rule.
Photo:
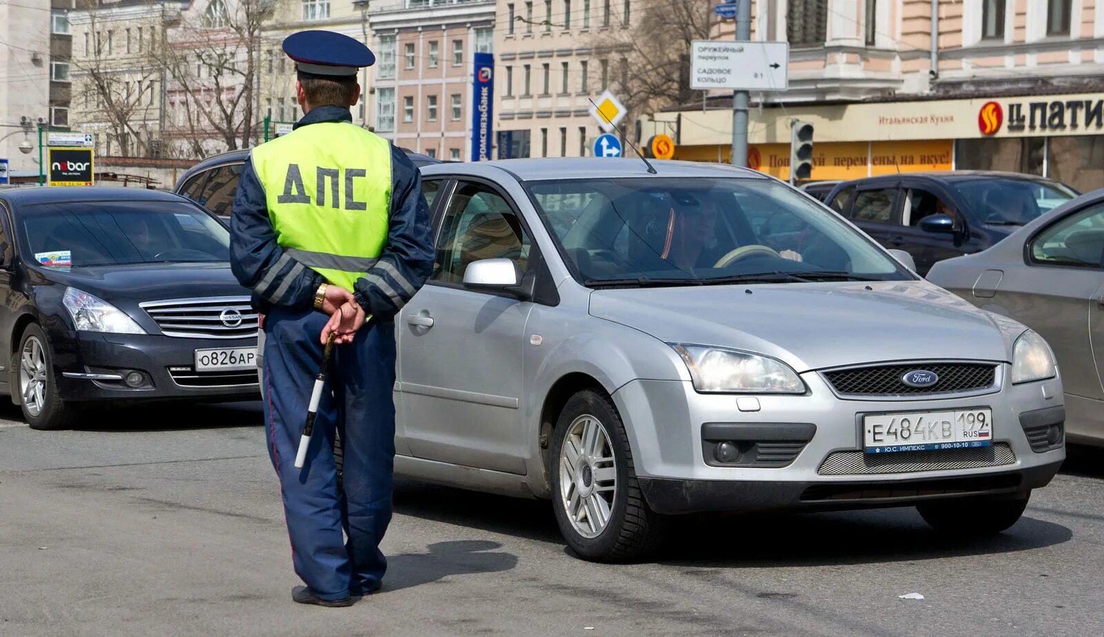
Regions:
<instances>
[{"instance_id":1,"label":"front wheel of the black Nissan at far left","mask_svg":"<svg viewBox=\"0 0 1104 637\"><path fill-rule=\"evenodd\" d=\"M23 331L12 369L17 380L13 391L19 392L19 407L31 429L54 431L73 423L76 409L57 392L50 342L36 323Z\"/></svg>"}]
</instances>

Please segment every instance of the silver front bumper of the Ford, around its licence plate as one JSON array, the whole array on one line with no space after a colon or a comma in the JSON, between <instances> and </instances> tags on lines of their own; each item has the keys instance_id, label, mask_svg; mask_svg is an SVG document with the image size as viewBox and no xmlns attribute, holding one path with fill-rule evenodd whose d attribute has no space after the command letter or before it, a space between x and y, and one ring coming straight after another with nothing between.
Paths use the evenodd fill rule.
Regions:
<instances>
[{"instance_id":1,"label":"silver front bumper of the Ford, around its licence plate","mask_svg":"<svg viewBox=\"0 0 1104 637\"><path fill-rule=\"evenodd\" d=\"M635 380L618 389L614 401L648 504L660 512L860 508L1020 494L1050 482L1065 457L1060 378L1012 386L1001 374L998 389L988 393L853 400L836 396L815 371L802 377L809 387L805 396L751 401L701 395L689 381ZM901 452L914 454L915 462L900 464L890 461L910 456L871 460L862 453L864 413L978 407L992 410L988 460L975 453L958 462L956 452L978 450ZM772 429L777 435L762 433ZM740 460L729 464L710 454L716 444L710 439L725 435L734 436L741 451ZM746 442L755 438L768 442Z\"/></svg>"}]
</instances>

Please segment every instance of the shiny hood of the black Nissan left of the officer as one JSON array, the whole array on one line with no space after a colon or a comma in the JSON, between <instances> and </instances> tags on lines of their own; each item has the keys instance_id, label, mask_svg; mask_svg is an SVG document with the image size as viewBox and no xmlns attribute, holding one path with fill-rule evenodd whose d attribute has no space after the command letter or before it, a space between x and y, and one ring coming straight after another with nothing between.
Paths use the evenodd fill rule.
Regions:
<instances>
[{"instance_id":1,"label":"shiny hood of the black Nissan left of the officer","mask_svg":"<svg viewBox=\"0 0 1104 637\"><path fill-rule=\"evenodd\" d=\"M42 268L41 274L109 303L202 296L246 296L225 261L214 263L142 263L92 268Z\"/></svg>"}]
</instances>

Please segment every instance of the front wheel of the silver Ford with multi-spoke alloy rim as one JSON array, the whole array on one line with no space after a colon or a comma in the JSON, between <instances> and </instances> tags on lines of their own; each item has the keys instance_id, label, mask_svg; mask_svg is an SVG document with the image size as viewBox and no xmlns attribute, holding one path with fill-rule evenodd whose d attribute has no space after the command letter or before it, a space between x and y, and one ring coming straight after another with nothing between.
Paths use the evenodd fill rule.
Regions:
<instances>
[{"instance_id":1,"label":"front wheel of the silver Ford with multi-spoke alloy rim","mask_svg":"<svg viewBox=\"0 0 1104 637\"><path fill-rule=\"evenodd\" d=\"M551 457L556 522L578 557L627 562L662 544L669 519L648 508L625 427L607 396L585 390L567 400L552 436Z\"/></svg>"}]
</instances>

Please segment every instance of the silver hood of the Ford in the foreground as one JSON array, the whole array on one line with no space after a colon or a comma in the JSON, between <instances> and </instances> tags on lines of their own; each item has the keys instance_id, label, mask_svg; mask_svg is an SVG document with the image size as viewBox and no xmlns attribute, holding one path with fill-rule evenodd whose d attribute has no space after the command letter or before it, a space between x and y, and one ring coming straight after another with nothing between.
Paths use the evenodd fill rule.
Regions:
<instances>
[{"instance_id":1,"label":"silver hood of the Ford in the foreground","mask_svg":"<svg viewBox=\"0 0 1104 637\"><path fill-rule=\"evenodd\" d=\"M597 290L591 314L667 343L779 358L798 373L884 360L1007 360L1015 335L926 281Z\"/></svg>"}]
</instances>

